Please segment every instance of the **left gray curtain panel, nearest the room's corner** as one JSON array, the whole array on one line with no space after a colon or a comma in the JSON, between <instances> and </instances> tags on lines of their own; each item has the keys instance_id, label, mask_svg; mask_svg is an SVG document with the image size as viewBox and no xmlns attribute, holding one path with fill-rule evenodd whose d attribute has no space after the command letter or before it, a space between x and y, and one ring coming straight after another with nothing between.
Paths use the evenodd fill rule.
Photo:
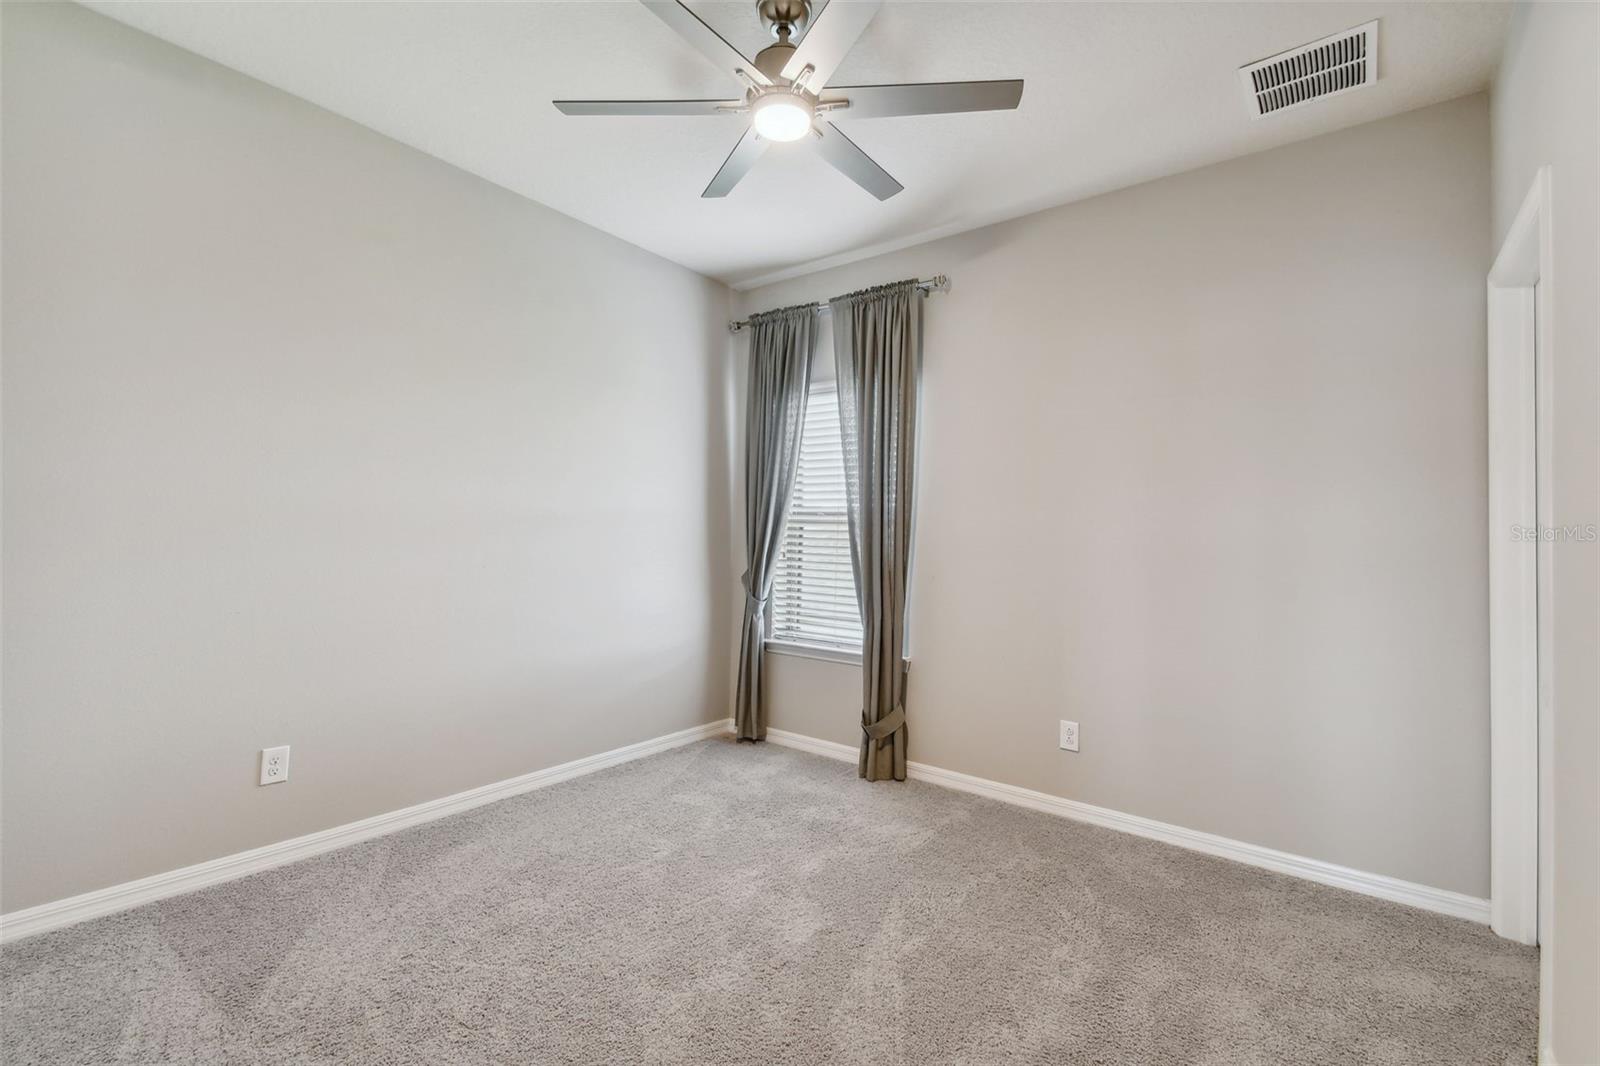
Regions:
<instances>
[{"instance_id":1,"label":"left gray curtain panel, nearest the room's corner","mask_svg":"<svg viewBox=\"0 0 1600 1066\"><path fill-rule=\"evenodd\" d=\"M800 464L800 431L816 352L814 304L750 315L750 395L744 424L744 632L734 725L739 739L766 739L762 642L766 600Z\"/></svg>"}]
</instances>

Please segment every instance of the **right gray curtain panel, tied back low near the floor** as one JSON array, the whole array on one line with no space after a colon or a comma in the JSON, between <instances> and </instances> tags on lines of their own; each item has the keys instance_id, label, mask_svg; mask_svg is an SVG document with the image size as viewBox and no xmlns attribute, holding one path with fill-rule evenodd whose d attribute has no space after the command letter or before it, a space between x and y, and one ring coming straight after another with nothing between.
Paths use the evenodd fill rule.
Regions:
<instances>
[{"instance_id":1,"label":"right gray curtain panel, tied back low near the floor","mask_svg":"<svg viewBox=\"0 0 1600 1066\"><path fill-rule=\"evenodd\" d=\"M867 781L906 779L906 595L922 299L917 282L832 301L850 562L861 605L861 762Z\"/></svg>"}]
</instances>

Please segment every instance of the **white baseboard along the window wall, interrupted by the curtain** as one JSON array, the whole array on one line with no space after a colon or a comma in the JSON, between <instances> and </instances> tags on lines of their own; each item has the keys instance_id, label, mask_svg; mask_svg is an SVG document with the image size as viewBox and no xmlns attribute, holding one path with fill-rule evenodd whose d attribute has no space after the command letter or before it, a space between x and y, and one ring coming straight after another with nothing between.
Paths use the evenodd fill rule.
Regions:
<instances>
[{"instance_id":1,"label":"white baseboard along the window wall, interrupted by the curtain","mask_svg":"<svg viewBox=\"0 0 1600 1066\"><path fill-rule=\"evenodd\" d=\"M858 759L856 749L850 744L824 741L814 736L790 733L787 730L770 728L766 730L766 739L774 744L782 744L784 747L798 747L800 751L827 755L829 759L843 759L845 762L856 762ZM1277 874L1304 877L1306 880L1315 880L1322 885L1358 892L1365 896L1378 896L1379 900L1405 903L1413 908L1434 911L1437 914L1448 914L1450 917L1467 919L1469 922L1478 922L1483 925L1488 925L1490 922L1490 901L1478 900L1477 896L1467 896L1459 892L1432 888L1429 885L1419 885L1397 877L1384 877L1382 874L1368 874L1365 871L1350 869L1349 866L1336 866L1333 863L1323 863L1302 855L1290 855L1288 852L1264 848L1259 844L1245 844L1243 840L1230 840L1227 837L1200 832L1197 829L1184 829L1182 826L1173 826L1152 818L1141 818L1139 815L1125 815L1107 807L1093 807L1090 804L1080 804L1078 800L1050 795L1048 792L1035 792L1014 784L1002 784L1000 781L989 781L966 773L957 773L955 770L930 767L922 762L906 763L906 775L915 781L930 781L933 784L942 784L947 789L958 789L962 792L987 795L989 799L997 799L1003 804L1042 810L1046 815L1059 815L1061 818L1086 821L1094 826L1131 832L1136 837L1149 837L1150 840L1160 840L1163 844L1176 844L1178 847L1189 848L1192 852L1205 852L1206 855L1234 860L1235 863L1245 863L1246 866L1270 869Z\"/></svg>"}]
</instances>

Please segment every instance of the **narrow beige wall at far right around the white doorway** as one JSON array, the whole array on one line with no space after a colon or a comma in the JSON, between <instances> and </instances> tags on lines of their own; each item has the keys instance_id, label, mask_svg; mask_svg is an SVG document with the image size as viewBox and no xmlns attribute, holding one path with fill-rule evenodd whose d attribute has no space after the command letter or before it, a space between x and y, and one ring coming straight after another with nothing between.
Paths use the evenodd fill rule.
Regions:
<instances>
[{"instance_id":1,"label":"narrow beige wall at far right around the white doorway","mask_svg":"<svg viewBox=\"0 0 1600 1066\"><path fill-rule=\"evenodd\" d=\"M1550 166L1555 525L1600 523L1600 8L1518 5L1493 90L1494 245ZM1555 1061L1600 1063L1600 546L1554 546Z\"/></svg>"}]
</instances>

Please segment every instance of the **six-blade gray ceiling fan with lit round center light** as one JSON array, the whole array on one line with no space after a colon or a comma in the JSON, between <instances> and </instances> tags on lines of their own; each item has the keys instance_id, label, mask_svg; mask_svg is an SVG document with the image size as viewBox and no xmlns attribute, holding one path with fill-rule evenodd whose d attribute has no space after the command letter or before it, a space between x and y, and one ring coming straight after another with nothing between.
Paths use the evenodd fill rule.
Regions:
<instances>
[{"instance_id":1,"label":"six-blade gray ceiling fan with lit round center light","mask_svg":"<svg viewBox=\"0 0 1600 1066\"><path fill-rule=\"evenodd\" d=\"M563 115L725 115L749 114L744 131L701 197L725 197L773 141L810 138L835 170L888 200L904 186L856 147L829 117L894 118L963 110L1010 110L1022 99L1022 82L923 82L914 85L829 86L835 67L878 11L880 0L829 0L811 24L810 0L757 0L776 45L754 61L722 38L678 0L642 0L662 22L739 78L741 99L558 99ZM811 24L810 29L806 26ZM790 38L802 34L800 43Z\"/></svg>"}]
</instances>

